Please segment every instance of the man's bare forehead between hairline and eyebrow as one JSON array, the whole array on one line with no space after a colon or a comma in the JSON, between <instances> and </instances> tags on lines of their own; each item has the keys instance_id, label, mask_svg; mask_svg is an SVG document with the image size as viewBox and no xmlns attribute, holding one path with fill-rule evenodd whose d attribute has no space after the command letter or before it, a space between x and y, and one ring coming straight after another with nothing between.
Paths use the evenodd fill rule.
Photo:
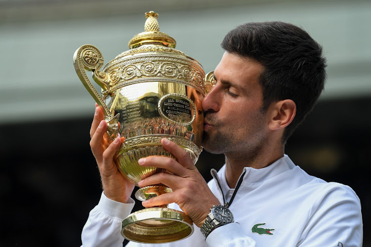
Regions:
<instances>
[{"instance_id":1,"label":"man's bare forehead between hairline and eyebrow","mask_svg":"<svg viewBox=\"0 0 371 247\"><path fill-rule=\"evenodd\" d=\"M259 77L264 66L254 59L225 52L215 68L215 78L237 83L241 87L260 86Z\"/></svg>"}]
</instances>

